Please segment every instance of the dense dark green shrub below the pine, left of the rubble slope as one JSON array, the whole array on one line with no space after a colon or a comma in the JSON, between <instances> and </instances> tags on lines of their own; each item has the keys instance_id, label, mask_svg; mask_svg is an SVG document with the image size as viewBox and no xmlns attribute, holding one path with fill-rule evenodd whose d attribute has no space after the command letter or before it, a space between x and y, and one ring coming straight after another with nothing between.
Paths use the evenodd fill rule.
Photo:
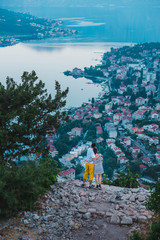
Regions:
<instances>
[{"instance_id":1,"label":"dense dark green shrub below the pine, left of the rubble slope","mask_svg":"<svg viewBox=\"0 0 160 240\"><path fill-rule=\"evenodd\" d=\"M55 182L56 163L43 159L21 166L0 165L0 218L31 210L34 202Z\"/></svg>"}]
</instances>

